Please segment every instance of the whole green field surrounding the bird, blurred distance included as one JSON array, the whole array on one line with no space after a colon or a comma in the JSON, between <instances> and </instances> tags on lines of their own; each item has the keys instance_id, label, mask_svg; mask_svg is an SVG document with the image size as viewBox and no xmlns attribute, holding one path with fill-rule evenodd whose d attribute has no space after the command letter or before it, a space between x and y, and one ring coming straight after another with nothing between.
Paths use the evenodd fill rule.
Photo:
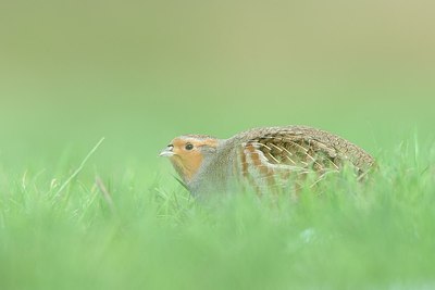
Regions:
<instances>
[{"instance_id":1,"label":"whole green field surrounding the bird, blurred distance included","mask_svg":"<svg viewBox=\"0 0 435 290\"><path fill-rule=\"evenodd\" d=\"M435 289L433 11L4 1L0 289ZM201 204L158 157L187 133L296 124L377 169Z\"/></svg>"}]
</instances>

